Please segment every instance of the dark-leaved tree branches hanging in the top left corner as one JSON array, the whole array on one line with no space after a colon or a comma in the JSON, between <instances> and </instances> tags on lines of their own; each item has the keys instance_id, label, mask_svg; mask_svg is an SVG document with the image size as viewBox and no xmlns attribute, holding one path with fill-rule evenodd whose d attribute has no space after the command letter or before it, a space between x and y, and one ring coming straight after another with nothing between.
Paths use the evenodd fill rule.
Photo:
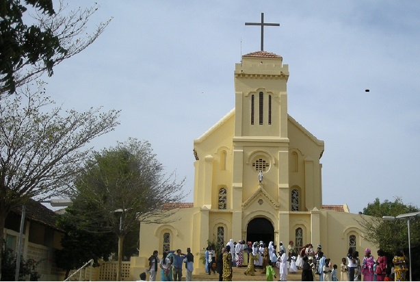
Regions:
<instances>
[{"instance_id":1,"label":"dark-leaved tree branches hanging in the top left corner","mask_svg":"<svg viewBox=\"0 0 420 282\"><path fill-rule=\"evenodd\" d=\"M56 9L52 0L25 0L25 4L0 1L0 96L44 73L53 75L53 66L86 49L110 21L87 33L89 19L99 8L96 3L70 11L64 1ZM36 10L28 13L31 8ZM24 23L25 13L34 24Z\"/></svg>"}]
</instances>

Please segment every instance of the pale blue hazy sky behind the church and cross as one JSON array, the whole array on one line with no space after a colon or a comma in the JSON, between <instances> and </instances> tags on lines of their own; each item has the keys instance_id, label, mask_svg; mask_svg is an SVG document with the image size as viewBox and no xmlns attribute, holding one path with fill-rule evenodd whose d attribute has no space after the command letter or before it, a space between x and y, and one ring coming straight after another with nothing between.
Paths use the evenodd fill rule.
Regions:
<instances>
[{"instance_id":1,"label":"pale blue hazy sky behind the church and cross","mask_svg":"<svg viewBox=\"0 0 420 282\"><path fill-rule=\"evenodd\" d=\"M122 110L95 150L147 140L192 202L193 141L235 107L235 64L260 49L261 28L244 23L263 12L280 23L264 50L289 64L289 114L325 142L323 204L420 206L420 1L96 2L90 27L111 23L46 79L63 108Z\"/></svg>"}]
</instances>

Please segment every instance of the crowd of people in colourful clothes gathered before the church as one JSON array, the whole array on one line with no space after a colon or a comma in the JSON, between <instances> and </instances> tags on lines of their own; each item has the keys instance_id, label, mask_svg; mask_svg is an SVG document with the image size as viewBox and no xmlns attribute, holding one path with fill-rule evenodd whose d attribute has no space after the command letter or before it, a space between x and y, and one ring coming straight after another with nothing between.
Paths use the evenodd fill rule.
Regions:
<instances>
[{"instance_id":1,"label":"crowd of people in colourful clothes gathered before the church","mask_svg":"<svg viewBox=\"0 0 420 282\"><path fill-rule=\"evenodd\" d=\"M155 281L158 269L161 281L181 281L183 264L186 281L192 281L194 255L190 248L187 248L187 254L178 249L164 252L161 259L157 255L158 251L155 251L149 258L149 281ZM287 281L288 272L296 273L298 270L302 270L302 281L361 281L362 275L363 281L406 281L408 258L403 251L397 251L392 267L382 250L378 250L377 255L375 259L371 250L366 248L365 256L360 261L358 251L349 248L338 268L337 264L332 264L331 259L326 257L321 245L315 251L312 244L295 248L293 241L286 248L283 242L276 246L274 242L266 245L262 241L252 243L240 240L237 243L231 239L221 248L220 253L216 253L214 245L208 246L204 258L205 271L209 275L218 272L219 281L232 281L233 267L246 267L244 274L247 276L254 276L256 270L261 269L267 281L277 279L276 270L280 278L278 281ZM140 274L141 281L145 277L146 273Z\"/></svg>"}]
</instances>

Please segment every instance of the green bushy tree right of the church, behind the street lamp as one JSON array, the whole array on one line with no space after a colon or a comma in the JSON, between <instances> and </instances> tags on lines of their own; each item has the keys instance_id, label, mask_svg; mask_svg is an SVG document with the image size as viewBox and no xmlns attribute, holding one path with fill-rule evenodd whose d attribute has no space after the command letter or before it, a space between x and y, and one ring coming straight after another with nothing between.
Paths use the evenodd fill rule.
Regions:
<instances>
[{"instance_id":1,"label":"green bushy tree right of the church, behind the street lamp","mask_svg":"<svg viewBox=\"0 0 420 282\"><path fill-rule=\"evenodd\" d=\"M419 211L414 205L406 205L401 198L394 201L380 202L376 198L363 209L363 214L372 218L362 218L360 225L365 229L365 238L386 253L395 253L397 249L408 248L408 229L406 220L383 220L382 216L398 216ZM420 218L411 220L411 246L420 246Z\"/></svg>"}]
</instances>

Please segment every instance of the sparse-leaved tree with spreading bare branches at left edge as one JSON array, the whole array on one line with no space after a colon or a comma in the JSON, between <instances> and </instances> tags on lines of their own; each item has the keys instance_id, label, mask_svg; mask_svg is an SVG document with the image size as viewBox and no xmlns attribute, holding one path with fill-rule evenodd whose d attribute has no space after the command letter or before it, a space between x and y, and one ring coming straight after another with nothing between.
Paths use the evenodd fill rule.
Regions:
<instances>
[{"instance_id":1,"label":"sparse-leaved tree with spreading bare branches at left edge","mask_svg":"<svg viewBox=\"0 0 420 282\"><path fill-rule=\"evenodd\" d=\"M25 205L29 198L42 201L68 192L88 157L81 148L118 125L115 110L62 114L60 107L52 107L43 84L1 97L0 238L14 207Z\"/></svg>"}]
</instances>

